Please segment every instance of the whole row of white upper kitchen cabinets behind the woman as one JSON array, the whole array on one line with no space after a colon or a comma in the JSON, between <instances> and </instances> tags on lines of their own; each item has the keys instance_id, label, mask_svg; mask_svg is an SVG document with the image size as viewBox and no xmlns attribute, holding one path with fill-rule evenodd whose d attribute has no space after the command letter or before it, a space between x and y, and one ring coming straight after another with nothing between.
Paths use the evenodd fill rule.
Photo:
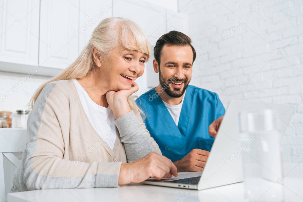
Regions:
<instances>
[{"instance_id":1,"label":"whole row of white upper kitchen cabinets behind the woman","mask_svg":"<svg viewBox=\"0 0 303 202\"><path fill-rule=\"evenodd\" d=\"M170 30L187 33L187 16L159 6L159 1L158 5L151 2L1 0L0 70L55 76L75 61L98 23L112 16L138 23L151 47ZM150 77L151 74L155 73L150 61L145 78L156 80L158 75ZM155 82L147 85L144 79L142 83L145 90Z\"/></svg>"}]
</instances>

